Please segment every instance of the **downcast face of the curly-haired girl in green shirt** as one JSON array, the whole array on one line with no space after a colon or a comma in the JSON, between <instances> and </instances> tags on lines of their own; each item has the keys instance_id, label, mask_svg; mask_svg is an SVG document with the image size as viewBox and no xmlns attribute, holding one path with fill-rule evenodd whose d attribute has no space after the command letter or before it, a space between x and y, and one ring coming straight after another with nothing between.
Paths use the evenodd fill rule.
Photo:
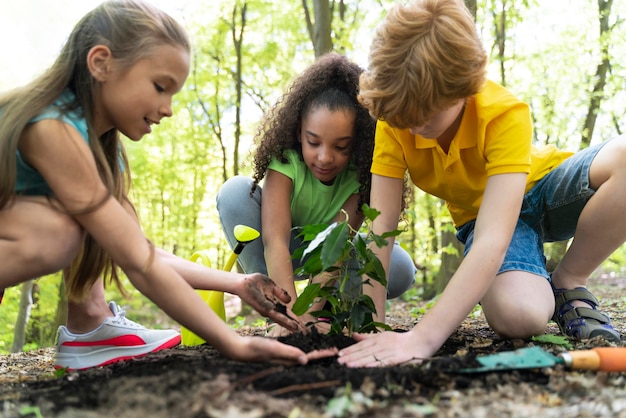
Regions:
<instances>
[{"instance_id":1,"label":"downcast face of the curly-haired girl in green shirt","mask_svg":"<svg viewBox=\"0 0 626 418\"><path fill-rule=\"evenodd\" d=\"M348 110L316 108L302 119L304 162L324 184L332 184L350 162L356 115Z\"/></svg>"}]
</instances>

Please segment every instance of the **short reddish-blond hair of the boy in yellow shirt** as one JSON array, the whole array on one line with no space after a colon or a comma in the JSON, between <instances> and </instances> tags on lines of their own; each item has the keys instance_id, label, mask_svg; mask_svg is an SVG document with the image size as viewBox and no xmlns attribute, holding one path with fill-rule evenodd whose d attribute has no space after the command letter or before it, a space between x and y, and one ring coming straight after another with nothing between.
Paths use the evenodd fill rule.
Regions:
<instances>
[{"instance_id":1,"label":"short reddish-blond hair of the boy in yellow shirt","mask_svg":"<svg viewBox=\"0 0 626 418\"><path fill-rule=\"evenodd\" d=\"M420 126L433 112L478 93L487 54L461 0L412 0L377 28L359 100L391 126Z\"/></svg>"}]
</instances>

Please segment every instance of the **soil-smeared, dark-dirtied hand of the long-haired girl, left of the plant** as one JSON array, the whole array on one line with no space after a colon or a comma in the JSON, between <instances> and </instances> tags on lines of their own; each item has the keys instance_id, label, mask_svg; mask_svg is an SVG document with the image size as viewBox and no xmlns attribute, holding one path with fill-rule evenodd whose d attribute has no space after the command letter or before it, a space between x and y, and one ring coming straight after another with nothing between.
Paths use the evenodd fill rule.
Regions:
<instances>
[{"instance_id":1,"label":"soil-smeared, dark-dirtied hand of the long-haired girl, left of the plant","mask_svg":"<svg viewBox=\"0 0 626 418\"><path fill-rule=\"evenodd\" d=\"M245 277L236 294L261 315L270 318L287 330L304 331L304 325L289 315L285 304L291 301L287 291L261 273Z\"/></svg>"}]
</instances>

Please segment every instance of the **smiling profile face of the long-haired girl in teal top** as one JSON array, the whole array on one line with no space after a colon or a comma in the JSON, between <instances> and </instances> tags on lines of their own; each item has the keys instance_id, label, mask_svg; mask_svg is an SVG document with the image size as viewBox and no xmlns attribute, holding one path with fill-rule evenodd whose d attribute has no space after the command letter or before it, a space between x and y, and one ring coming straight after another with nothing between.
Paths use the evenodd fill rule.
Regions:
<instances>
[{"instance_id":1,"label":"smiling profile face of the long-haired girl in teal top","mask_svg":"<svg viewBox=\"0 0 626 418\"><path fill-rule=\"evenodd\" d=\"M189 53L180 46L164 44L128 69L111 71L95 94L95 125L98 135L117 128L138 141L152 132L151 125L172 116L172 97L189 74Z\"/></svg>"}]
</instances>

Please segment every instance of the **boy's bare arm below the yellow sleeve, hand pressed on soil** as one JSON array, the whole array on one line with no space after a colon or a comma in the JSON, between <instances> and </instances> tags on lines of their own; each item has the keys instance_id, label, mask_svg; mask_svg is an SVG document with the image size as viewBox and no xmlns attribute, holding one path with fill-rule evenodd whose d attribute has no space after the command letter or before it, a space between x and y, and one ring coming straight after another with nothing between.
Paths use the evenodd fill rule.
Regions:
<instances>
[{"instance_id":1,"label":"boy's bare arm below the yellow sleeve, hand pressed on soil","mask_svg":"<svg viewBox=\"0 0 626 418\"><path fill-rule=\"evenodd\" d=\"M515 230L525 185L523 173L490 177L476 220L472 249L435 306L406 334L360 336L359 344L343 350L340 362L380 366L432 356L493 283Z\"/></svg>"}]
</instances>

